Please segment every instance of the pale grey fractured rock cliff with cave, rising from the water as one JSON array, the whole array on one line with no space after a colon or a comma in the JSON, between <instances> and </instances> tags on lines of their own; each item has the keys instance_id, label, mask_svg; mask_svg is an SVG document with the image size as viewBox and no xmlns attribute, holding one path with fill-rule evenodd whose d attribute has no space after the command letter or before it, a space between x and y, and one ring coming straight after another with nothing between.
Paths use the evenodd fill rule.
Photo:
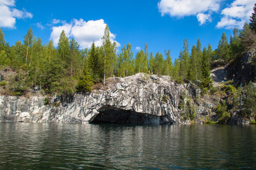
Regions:
<instances>
[{"instance_id":1,"label":"pale grey fractured rock cliff with cave, rising from the water","mask_svg":"<svg viewBox=\"0 0 256 170\"><path fill-rule=\"evenodd\" d=\"M181 124L193 117L202 122L214 115L215 100L196 100L199 95L191 83L139 73L109 78L106 86L87 94L0 96L0 121Z\"/></svg>"}]
</instances>

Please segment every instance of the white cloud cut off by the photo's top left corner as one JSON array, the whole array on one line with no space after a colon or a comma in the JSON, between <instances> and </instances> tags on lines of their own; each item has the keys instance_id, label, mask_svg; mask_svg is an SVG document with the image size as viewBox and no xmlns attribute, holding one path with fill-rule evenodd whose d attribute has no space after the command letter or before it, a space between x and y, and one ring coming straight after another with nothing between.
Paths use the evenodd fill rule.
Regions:
<instances>
[{"instance_id":1,"label":"white cloud cut off by the photo's top left corner","mask_svg":"<svg viewBox=\"0 0 256 170\"><path fill-rule=\"evenodd\" d=\"M18 10L14 6L14 0L0 0L0 27L15 28L16 18L24 19L33 17L24 8Z\"/></svg>"}]
</instances>

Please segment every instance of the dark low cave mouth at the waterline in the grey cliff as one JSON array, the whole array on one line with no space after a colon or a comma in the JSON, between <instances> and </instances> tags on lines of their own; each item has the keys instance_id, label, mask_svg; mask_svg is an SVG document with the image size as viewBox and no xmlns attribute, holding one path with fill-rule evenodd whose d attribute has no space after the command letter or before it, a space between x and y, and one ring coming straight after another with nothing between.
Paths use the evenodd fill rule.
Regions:
<instances>
[{"instance_id":1,"label":"dark low cave mouth at the waterline in the grey cliff","mask_svg":"<svg viewBox=\"0 0 256 170\"><path fill-rule=\"evenodd\" d=\"M91 124L160 124L160 116L123 109L109 109L94 117Z\"/></svg>"}]
</instances>

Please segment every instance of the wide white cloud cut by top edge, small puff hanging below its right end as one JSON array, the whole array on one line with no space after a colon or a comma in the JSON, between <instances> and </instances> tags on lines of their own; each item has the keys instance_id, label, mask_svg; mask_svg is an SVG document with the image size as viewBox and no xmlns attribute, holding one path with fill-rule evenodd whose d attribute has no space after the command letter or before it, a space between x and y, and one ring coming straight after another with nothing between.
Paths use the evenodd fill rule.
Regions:
<instances>
[{"instance_id":1,"label":"wide white cloud cut by top edge, small puff hanging below its right end","mask_svg":"<svg viewBox=\"0 0 256 170\"><path fill-rule=\"evenodd\" d=\"M196 15L200 25L211 21L210 13L220 9L221 0L161 0L158 9L162 16ZM206 14L205 14L206 13Z\"/></svg>"}]
</instances>

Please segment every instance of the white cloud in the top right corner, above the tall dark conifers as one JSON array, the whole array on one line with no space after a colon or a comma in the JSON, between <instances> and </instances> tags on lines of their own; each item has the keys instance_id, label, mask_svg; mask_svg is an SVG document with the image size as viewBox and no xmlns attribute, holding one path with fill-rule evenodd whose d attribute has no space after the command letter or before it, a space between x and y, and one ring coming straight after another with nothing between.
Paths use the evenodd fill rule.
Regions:
<instances>
[{"instance_id":1,"label":"white cloud in the top right corner, above the tall dark conifers","mask_svg":"<svg viewBox=\"0 0 256 170\"><path fill-rule=\"evenodd\" d=\"M255 0L236 0L229 7L221 11L222 18L216 25L217 28L232 29L242 28L253 13Z\"/></svg>"}]
</instances>

